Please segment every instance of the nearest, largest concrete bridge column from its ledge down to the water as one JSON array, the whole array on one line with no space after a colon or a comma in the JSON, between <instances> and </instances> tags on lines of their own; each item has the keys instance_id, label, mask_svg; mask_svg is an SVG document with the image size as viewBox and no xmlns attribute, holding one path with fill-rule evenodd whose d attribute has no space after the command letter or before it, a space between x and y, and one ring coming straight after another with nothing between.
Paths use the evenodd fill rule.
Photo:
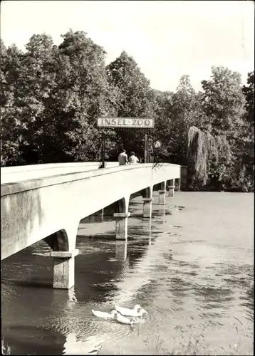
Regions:
<instances>
[{"instance_id":1,"label":"nearest, largest concrete bridge column from its ledge down to the water","mask_svg":"<svg viewBox=\"0 0 255 356\"><path fill-rule=\"evenodd\" d=\"M53 257L53 288L70 289L74 286L74 258L78 253L78 249L51 251L51 257Z\"/></svg>"}]
</instances>

